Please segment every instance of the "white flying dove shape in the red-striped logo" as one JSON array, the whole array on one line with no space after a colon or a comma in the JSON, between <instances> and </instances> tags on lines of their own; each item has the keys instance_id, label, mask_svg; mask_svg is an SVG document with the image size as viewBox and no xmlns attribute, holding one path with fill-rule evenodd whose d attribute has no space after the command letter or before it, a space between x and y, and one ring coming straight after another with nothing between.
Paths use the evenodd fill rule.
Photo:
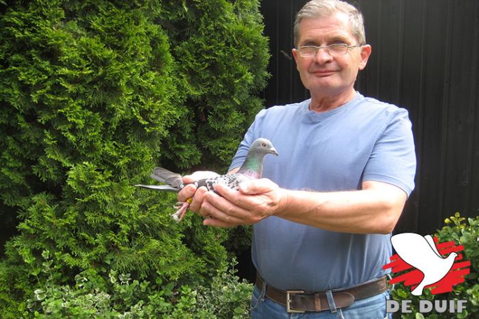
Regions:
<instances>
[{"instance_id":1,"label":"white flying dove shape in the red-striped logo","mask_svg":"<svg viewBox=\"0 0 479 319\"><path fill-rule=\"evenodd\" d=\"M411 292L415 296L421 296L426 285L443 279L451 270L454 259L457 257L456 253L450 253L443 258L430 235L423 237L417 233L400 233L391 237L391 244L402 260L424 275L423 280Z\"/></svg>"}]
</instances>

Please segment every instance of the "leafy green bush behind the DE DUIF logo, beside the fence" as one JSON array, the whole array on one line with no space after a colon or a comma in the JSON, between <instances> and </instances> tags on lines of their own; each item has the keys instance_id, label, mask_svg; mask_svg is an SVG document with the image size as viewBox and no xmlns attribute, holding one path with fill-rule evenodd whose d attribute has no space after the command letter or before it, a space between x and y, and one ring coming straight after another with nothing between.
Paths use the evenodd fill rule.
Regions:
<instances>
[{"instance_id":1,"label":"leafy green bush behind the DE DUIF logo, beside the fence","mask_svg":"<svg viewBox=\"0 0 479 319\"><path fill-rule=\"evenodd\" d=\"M471 261L471 272L465 277L465 282L454 286L454 291L447 294L431 294L430 290L425 289L422 296L413 296L410 294L410 288L402 284L396 284L391 296L397 301L403 299L412 300L411 314L402 314L401 318L414 319L445 319L445 318L471 318L473 314L479 311L479 216L476 218L460 217L459 213L445 220L443 229L437 231L434 235L439 239L439 242L454 241L456 244L464 246L465 259ZM466 300L467 307L463 313L450 314L445 312L443 314L433 313L420 314L417 305L419 300Z\"/></svg>"}]
</instances>

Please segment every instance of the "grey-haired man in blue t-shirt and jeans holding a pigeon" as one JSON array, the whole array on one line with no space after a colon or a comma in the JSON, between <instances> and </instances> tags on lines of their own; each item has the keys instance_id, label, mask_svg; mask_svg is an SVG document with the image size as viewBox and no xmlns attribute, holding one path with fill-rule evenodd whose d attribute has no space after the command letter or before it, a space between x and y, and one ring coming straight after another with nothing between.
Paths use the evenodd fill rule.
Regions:
<instances>
[{"instance_id":1,"label":"grey-haired man in blue t-shirt and jeans holding a pigeon","mask_svg":"<svg viewBox=\"0 0 479 319\"><path fill-rule=\"evenodd\" d=\"M311 99L262 110L234 157L234 173L256 138L263 179L239 191L188 186L204 225L254 225L258 271L253 318L384 318L389 239L414 188L408 112L354 90L371 54L363 17L339 0L312 0L297 13L293 56ZM184 177L191 182L208 173ZM292 318L292 317L291 317ZM303 318L303 317L302 317Z\"/></svg>"}]
</instances>

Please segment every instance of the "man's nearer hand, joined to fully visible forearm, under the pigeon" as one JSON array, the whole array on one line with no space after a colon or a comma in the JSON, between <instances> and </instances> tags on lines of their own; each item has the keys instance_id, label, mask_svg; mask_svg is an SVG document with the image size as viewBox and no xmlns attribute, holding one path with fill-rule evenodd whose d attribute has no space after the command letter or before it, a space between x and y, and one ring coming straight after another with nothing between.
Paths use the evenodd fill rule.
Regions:
<instances>
[{"instance_id":1,"label":"man's nearer hand, joined to fully visible forearm, under the pigeon","mask_svg":"<svg viewBox=\"0 0 479 319\"><path fill-rule=\"evenodd\" d=\"M199 214L210 217L204 220L204 225L252 225L276 214L286 203L286 191L269 179L245 181L239 186L239 191L223 185L216 186L214 190L218 194L202 192L199 195L202 201Z\"/></svg>"}]
</instances>

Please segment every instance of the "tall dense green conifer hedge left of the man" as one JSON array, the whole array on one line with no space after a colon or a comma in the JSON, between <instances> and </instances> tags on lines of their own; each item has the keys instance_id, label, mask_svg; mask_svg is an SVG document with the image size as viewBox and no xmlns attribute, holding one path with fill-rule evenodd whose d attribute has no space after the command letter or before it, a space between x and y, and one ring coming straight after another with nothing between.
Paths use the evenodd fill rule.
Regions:
<instances>
[{"instance_id":1,"label":"tall dense green conifer hedge left of the man","mask_svg":"<svg viewBox=\"0 0 479 319\"><path fill-rule=\"evenodd\" d=\"M132 185L157 165L228 165L268 76L258 6L0 1L0 222L18 223L1 318L85 272L99 290L112 272L155 283L175 305L175 291L225 269L228 231L193 214L175 224L175 196Z\"/></svg>"}]
</instances>

